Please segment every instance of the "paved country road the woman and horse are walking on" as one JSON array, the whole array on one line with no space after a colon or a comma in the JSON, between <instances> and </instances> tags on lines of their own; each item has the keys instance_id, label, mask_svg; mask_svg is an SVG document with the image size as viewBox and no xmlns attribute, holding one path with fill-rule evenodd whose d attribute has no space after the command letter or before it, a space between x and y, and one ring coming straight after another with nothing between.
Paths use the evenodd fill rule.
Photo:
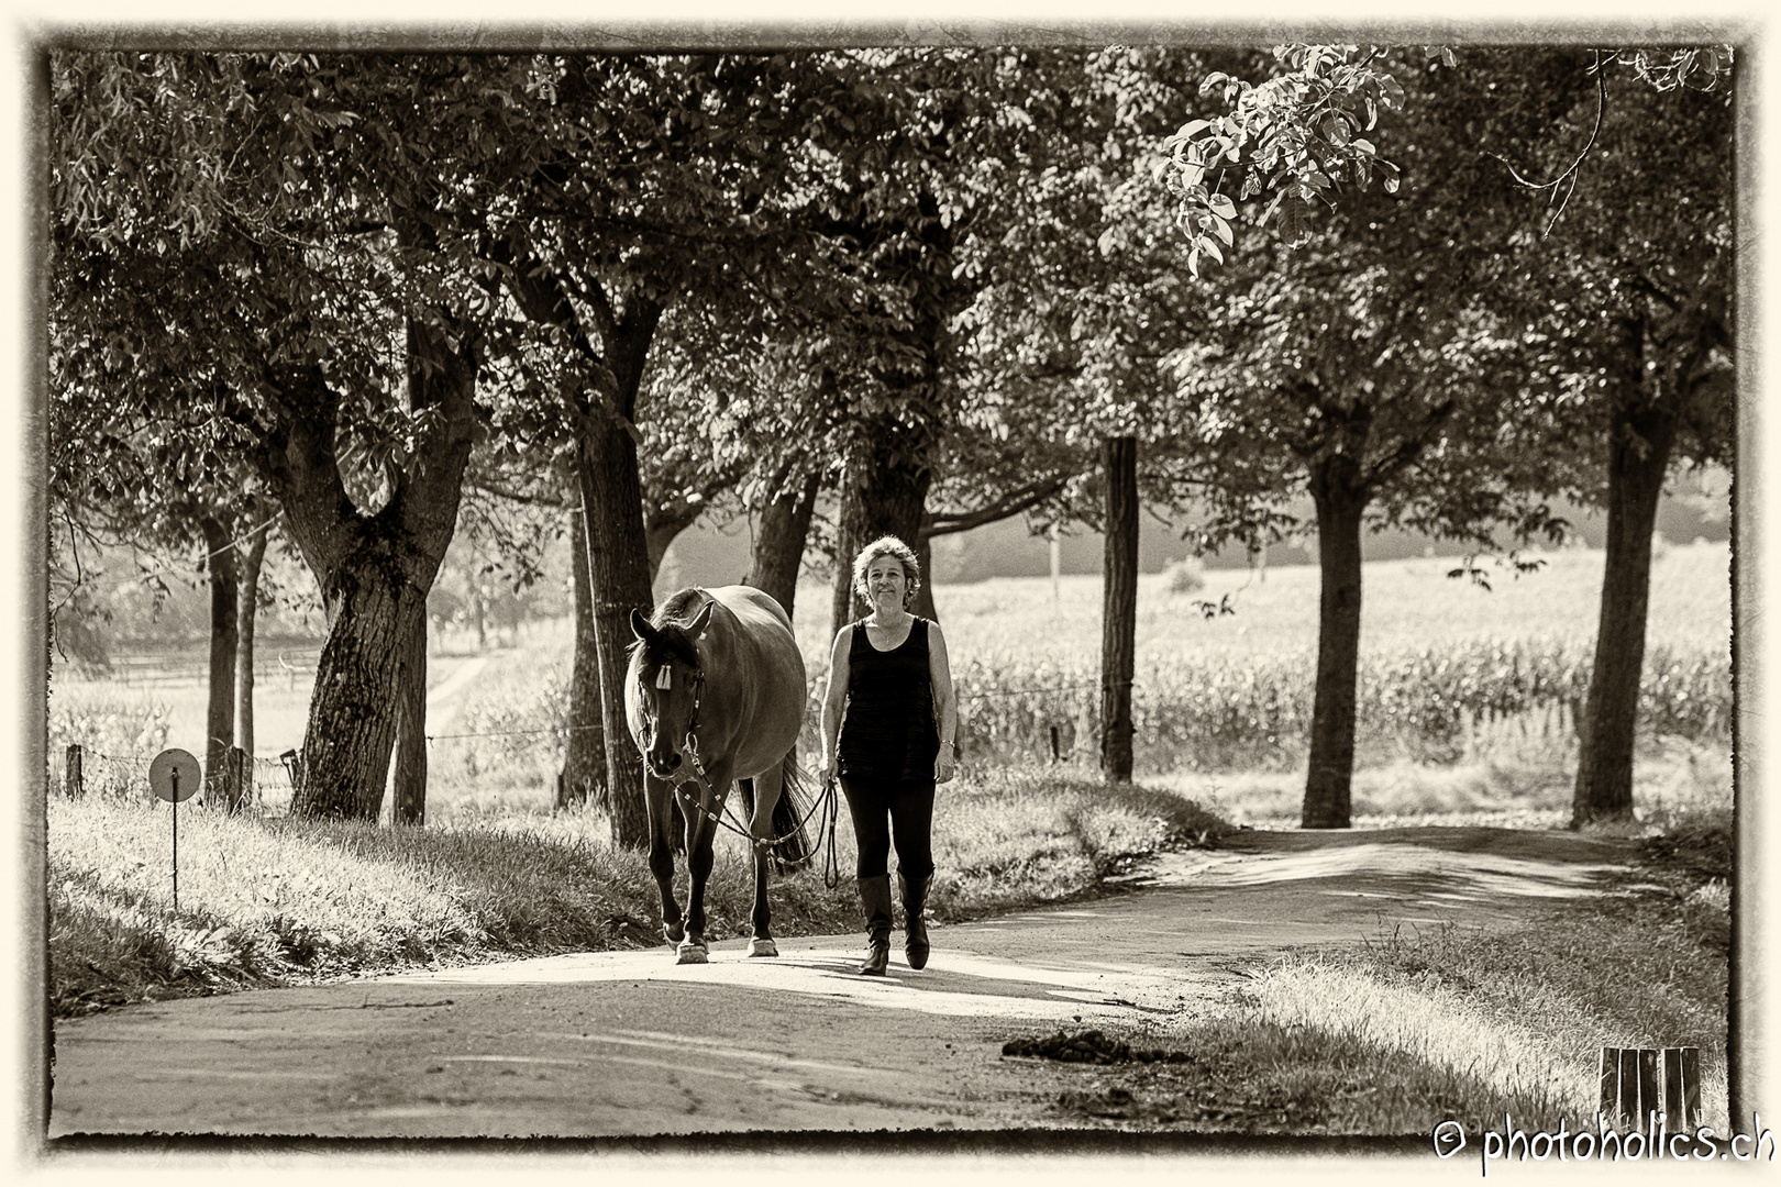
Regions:
<instances>
[{"instance_id":1,"label":"paved country road the woman and horse are walking on","mask_svg":"<svg viewBox=\"0 0 1781 1187\"><path fill-rule=\"evenodd\" d=\"M1145 884L935 929L923 972L857 977L857 936L711 965L591 952L121 1009L55 1027L50 1135L531 1137L1069 1125L1083 1068L1010 1038L1168 1036L1243 968L1398 920L1492 925L1626 845L1567 833L1245 833Z\"/></svg>"}]
</instances>

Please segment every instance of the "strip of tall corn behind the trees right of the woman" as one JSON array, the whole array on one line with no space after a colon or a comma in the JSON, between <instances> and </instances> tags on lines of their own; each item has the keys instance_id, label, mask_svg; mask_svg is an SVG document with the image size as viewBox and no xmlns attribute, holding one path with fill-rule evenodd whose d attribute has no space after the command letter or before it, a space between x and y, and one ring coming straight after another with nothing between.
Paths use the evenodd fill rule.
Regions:
<instances>
[{"instance_id":1,"label":"strip of tall corn behind the trees right of the woman","mask_svg":"<svg viewBox=\"0 0 1781 1187\"><path fill-rule=\"evenodd\" d=\"M997 662L999 660L999 662ZM1592 650L1517 639L1362 655L1355 747L1362 762L1453 763L1514 731L1569 746L1589 690ZM1316 653L1183 662L1151 657L1133 685L1138 762L1168 771L1288 769L1311 731ZM960 742L983 758L1094 747L1101 692L1092 660L1033 666L996 657L955 673ZM1656 648L1646 657L1639 730L1646 739L1724 740L1731 664Z\"/></svg>"}]
</instances>

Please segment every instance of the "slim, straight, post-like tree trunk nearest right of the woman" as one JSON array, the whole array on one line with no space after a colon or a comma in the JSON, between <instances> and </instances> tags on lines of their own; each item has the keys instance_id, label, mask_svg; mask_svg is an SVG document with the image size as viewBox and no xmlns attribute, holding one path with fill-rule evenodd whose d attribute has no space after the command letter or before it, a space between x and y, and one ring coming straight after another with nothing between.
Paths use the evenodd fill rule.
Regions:
<instances>
[{"instance_id":1,"label":"slim, straight, post-like tree trunk nearest right of the woman","mask_svg":"<svg viewBox=\"0 0 1781 1187\"><path fill-rule=\"evenodd\" d=\"M1138 642L1138 438L1108 438L1106 559L1101 573L1101 771L1131 783L1131 680Z\"/></svg>"}]
</instances>

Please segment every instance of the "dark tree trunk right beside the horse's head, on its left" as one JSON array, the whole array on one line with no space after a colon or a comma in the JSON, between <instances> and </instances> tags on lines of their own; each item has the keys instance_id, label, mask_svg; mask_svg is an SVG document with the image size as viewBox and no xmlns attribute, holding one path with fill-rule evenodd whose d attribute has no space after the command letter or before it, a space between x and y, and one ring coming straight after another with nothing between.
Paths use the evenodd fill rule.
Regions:
<instances>
[{"instance_id":1,"label":"dark tree trunk right beside the horse's head, on its left","mask_svg":"<svg viewBox=\"0 0 1781 1187\"><path fill-rule=\"evenodd\" d=\"M643 803L643 756L625 723L625 669L630 610L648 612L648 546L643 537L643 482L629 418L636 409L643 365L661 308L632 297L634 306L616 327L609 349L618 381L618 416L591 409L582 422L577 456L588 559L593 575L593 634L600 655L600 724L606 731L606 787L613 799L613 844L648 847L648 810Z\"/></svg>"}]
</instances>

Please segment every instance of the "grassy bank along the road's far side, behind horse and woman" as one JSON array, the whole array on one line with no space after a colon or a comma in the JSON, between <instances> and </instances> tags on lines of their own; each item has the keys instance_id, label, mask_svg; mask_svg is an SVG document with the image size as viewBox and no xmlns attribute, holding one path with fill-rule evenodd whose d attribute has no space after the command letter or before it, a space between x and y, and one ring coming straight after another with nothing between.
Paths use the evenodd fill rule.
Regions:
<instances>
[{"instance_id":1,"label":"grassy bank along the road's far side, behind horse and woman","mask_svg":"<svg viewBox=\"0 0 1781 1187\"><path fill-rule=\"evenodd\" d=\"M1106 787L1067 767L974 772L940 788L931 892L939 918L1094 893L1145 852L1225 826L1179 795ZM645 854L604 817L490 817L458 828L297 819L180 819L173 908L166 806L50 799L50 997L55 1016L253 986L659 943ZM748 934L753 874L727 835L705 893L711 938ZM773 879L780 936L858 927L853 838L841 881L821 861ZM679 886L684 897L686 867Z\"/></svg>"}]
</instances>

